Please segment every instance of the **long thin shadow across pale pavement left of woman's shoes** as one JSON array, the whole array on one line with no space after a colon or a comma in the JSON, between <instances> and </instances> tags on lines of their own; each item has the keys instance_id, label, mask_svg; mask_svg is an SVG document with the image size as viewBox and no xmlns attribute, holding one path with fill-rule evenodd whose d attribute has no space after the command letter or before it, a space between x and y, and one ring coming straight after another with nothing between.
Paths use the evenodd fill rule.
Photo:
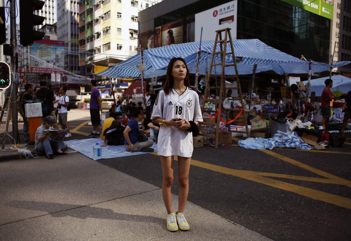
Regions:
<instances>
[{"instance_id":1,"label":"long thin shadow across pale pavement left of woman's shoes","mask_svg":"<svg viewBox=\"0 0 351 241\"><path fill-rule=\"evenodd\" d=\"M113 219L113 220L124 220L124 221L133 221L133 222L152 222L158 224L164 224L165 220L152 217L152 216L141 216L141 215L132 215L132 214L123 214L115 213L111 209L106 208L97 208L91 206L80 206L72 204L63 204L55 202L37 202L37 201L11 201L6 202L4 205L11 206L15 208L44 211L50 214L53 209L60 210L55 213L51 213L53 217L76 217L79 219L95 218L95 219ZM71 209L81 208L80 212L67 212ZM41 215L40 215L41 216Z\"/></svg>"}]
</instances>

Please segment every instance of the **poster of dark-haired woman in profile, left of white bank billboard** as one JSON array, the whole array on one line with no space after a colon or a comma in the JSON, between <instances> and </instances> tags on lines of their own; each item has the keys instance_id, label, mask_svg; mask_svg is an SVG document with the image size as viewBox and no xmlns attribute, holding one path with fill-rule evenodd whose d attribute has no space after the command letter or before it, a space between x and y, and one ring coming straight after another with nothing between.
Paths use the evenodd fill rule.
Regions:
<instances>
[{"instance_id":1,"label":"poster of dark-haired woman in profile, left of white bank billboard","mask_svg":"<svg viewBox=\"0 0 351 241\"><path fill-rule=\"evenodd\" d=\"M162 46L183 43L182 20L162 26Z\"/></svg>"}]
</instances>

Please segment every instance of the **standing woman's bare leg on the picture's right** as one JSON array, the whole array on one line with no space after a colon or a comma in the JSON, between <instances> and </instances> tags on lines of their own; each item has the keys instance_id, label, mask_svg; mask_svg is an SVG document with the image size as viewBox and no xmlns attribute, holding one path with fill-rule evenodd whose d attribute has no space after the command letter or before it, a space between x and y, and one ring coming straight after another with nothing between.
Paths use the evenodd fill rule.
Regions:
<instances>
[{"instance_id":1,"label":"standing woman's bare leg on the picture's right","mask_svg":"<svg viewBox=\"0 0 351 241\"><path fill-rule=\"evenodd\" d=\"M178 156L178 213L183 213L189 193L190 157Z\"/></svg>"}]
</instances>

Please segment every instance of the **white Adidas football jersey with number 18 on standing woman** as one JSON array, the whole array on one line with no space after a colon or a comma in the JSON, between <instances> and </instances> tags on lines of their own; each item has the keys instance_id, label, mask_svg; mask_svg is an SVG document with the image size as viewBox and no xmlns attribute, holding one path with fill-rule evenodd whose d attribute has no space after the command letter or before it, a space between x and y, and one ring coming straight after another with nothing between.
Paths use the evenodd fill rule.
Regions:
<instances>
[{"instance_id":1,"label":"white Adidas football jersey with number 18 on standing woman","mask_svg":"<svg viewBox=\"0 0 351 241\"><path fill-rule=\"evenodd\" d=\"M166 121L185 118L187 121L202 122L198 94L186 87L183 94L178 95L173 89L169 95L164 90L158 92L151 119L161 118ZM193 153L193 135L186 130L173 126L160 126L157 150L160 156L191 157Z\"/></svg>"}]
</instances>

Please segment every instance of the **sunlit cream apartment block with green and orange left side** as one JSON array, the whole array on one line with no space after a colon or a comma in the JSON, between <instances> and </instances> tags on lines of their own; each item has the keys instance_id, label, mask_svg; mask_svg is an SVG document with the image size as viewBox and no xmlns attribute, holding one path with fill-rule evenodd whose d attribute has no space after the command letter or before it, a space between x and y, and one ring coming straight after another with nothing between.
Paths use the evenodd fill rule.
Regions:
<instances>
[{"instance_id":1,"label":"sunlit cream apartment block with green and orange left side","mask_svg":"<svg viewBox=\"0 0 351 241\"><path fill-rule=\"evenodd\" d=\"M79 65L119 63L137 54L138 12L155 4L147 0L80 0Z\"/></svg>"}]
</instances>

